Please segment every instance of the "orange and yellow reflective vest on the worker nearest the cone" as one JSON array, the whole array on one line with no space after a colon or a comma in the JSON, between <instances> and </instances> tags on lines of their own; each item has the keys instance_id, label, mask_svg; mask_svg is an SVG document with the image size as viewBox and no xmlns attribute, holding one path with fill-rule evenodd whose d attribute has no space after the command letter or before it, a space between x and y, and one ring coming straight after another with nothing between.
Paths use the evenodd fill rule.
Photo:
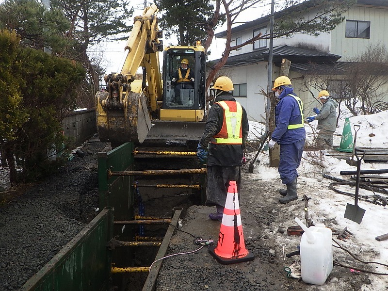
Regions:
<instances>
[{"instance_id":1,"label":"orange and yellow reflective vest on the worker nearest the cone","mask_svg":"<svg viewBox=\"0 0 388 291\"><path fill-rule=\"evenodd\" d=\"M212 144L242 145L242 107L237 101L215 102L224 109L221 131L211 139Z\"/></svg>"}]
</instances>

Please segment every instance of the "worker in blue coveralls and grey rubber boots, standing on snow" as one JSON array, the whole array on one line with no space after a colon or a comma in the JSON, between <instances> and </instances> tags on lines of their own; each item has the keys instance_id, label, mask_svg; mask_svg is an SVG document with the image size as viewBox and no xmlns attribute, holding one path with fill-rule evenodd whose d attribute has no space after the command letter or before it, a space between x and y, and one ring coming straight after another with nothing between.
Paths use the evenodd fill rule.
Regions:
<instances>
[{"instance_id":1,"label":"worker in blue coveralls and grey rubber boots, standing on snow","mask_svg":"<svg viewBox=\"0 0 388 291\"><path fill-rule=\"evenodd\" d=\"M275 130L272 133L269 147L275 143L280 146L278 171L287 190L281 189L280 203L289 203L298 199L296 194L297 168L302 159L306 131L304 127L303 102L293 92L291 81L286 76L276 78L274 88L279 103L275 107Z\"/></svg>"}]
</instances>

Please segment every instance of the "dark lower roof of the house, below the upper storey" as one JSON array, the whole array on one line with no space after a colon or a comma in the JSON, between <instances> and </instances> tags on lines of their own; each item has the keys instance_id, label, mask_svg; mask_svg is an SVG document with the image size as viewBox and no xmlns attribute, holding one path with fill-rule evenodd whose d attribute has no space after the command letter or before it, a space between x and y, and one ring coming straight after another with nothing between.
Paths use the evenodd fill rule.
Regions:
<instances>
[{"instance_id":1,"label":"dark lower roof of the house, below the upper storey","mask_svg":"<svg viewBox=\"0 0 388 291\"><path fill-rule=\"evenodd\" d=\"M252 65L262 61L268 62L269 49L257 49L252 52L243 53L235 56L228 57L224 68L235 67L240 65ZM297 47L291 47L287 45L277 46L273 49L273 62L280 63L283 58L287 58L293 63L308 64L310 62L314 63L324 63L324 62L336 62L341 56L319 52L311 49L301 49ZM214 60L212 62L217 62Z\"/></svg>"}]
</instances>

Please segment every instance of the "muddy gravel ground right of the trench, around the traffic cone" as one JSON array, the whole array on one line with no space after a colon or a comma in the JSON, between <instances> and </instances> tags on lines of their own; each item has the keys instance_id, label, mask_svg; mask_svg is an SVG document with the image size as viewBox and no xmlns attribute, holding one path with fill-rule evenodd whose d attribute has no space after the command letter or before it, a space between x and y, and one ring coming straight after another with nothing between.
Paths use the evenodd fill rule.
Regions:
<instances>
[{"instance_id":1,"label":"muddy gravel ground right of the trench, around the traffic cone","mask_svg":"<svg viewBox=\"0 0 388 291\"><path fill-rule=\"evenodd\" d=\"M305 216L305 202L303 194L310 196L314 185L300 183L298 185L299 199L286 205L278 203L276 194L281 182L271 183L252 179L248 173L248 165L243 166L242 190L240 194L240 210L242 217L243 235L246 248L255 255L249 262L223 265L210 256L207 247L203 247L194 254L180 255L164 259L158 277L157 291L173 290L381 290L373 287L368 273L351 273L349 268L334 266L333 271L322 286L304 283L302 280L288 278L284 271L294 259L300 256L283 259L283 248L280 243L286 243L285 253L297 250L300 243L299 236L288 236L287 226L296 225L294 217ZM313 203L313 202L310 202ZM215 208L192 206L183 219L182 230L200 236L203 239L217 241L221 222L211 221L208 217ZM310 217L314 221L316 217ZM336 221L320 221L326 226L335 228ZM336 236L333 236L336 238ZM343 243L339 241L339 243ZM335 243L333 243L335 244ZM345 243L346 244L346 243ZM182 231L177 231L170 243L168 255L189 252L199 248L194 244L194 238ZM352 250L356 251L357 250ZM359 250L358 250L359 251ZM359 252L357 253L359 254ZM363 256L373 253L362 253ZM333 249L335 261L350 266L373 271L372 267L359 264L347 253L337 248ZM313 259L313 258L312 258ZM388 290L388 287L386 289Z\"/></svg>"}]
</instances>

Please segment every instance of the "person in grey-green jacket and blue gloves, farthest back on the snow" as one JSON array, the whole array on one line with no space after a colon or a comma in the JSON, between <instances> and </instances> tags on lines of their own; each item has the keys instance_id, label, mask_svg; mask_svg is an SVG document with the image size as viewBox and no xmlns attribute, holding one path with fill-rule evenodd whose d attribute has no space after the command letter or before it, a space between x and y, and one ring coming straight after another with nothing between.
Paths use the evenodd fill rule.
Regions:
<instances>
[{"instance_id":1,"label":"person in grey-green jacket and blue gloves, farthest back on the snow","mask_svg":"<svg viewBox=\"0 0 388 291\"><path fill-rule=\"evenodd\" d=\"M337 110L338 103L329 96L329 92L322 90L318 95L323 104L322 109L314 107L313 111L317 115L307 117L307 122L318 120L319 130L317 136L317 146L321 149L329 149L333 146L334 131L337 129Z\"/></svg>"}]
</instances>

